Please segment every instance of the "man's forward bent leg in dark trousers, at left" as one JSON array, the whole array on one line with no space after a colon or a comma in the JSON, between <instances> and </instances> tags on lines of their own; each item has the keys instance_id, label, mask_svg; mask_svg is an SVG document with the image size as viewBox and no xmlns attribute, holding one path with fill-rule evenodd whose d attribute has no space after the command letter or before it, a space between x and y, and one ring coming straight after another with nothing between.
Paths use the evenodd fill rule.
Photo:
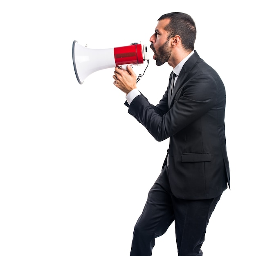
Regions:
<instances>
[{"instance_id":1,"label":"man's forward bent leg in dark trousers, at left","mask_svg":"<svg viewBox=\"0 0 256 256\"><path fill-rule=\"evenodd\" d=\"M155 238L162 236L174 220L167 168L148 193L148 200L133 232L130 256L151 256Z\"/></svg>"}]
</instances>

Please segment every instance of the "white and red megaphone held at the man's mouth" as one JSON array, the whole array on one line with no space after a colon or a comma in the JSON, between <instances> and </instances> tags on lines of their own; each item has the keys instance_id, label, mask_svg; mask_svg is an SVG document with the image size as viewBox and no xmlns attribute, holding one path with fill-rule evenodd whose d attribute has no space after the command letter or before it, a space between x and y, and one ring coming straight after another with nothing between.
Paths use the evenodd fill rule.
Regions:
<instances>
[{"instance_id":1,"label":"white and red megaphone held at the man's mouth","mask_svg":"<svg viewBox=\"0 0 256 256\"><path fill-rule=\"evenodd\" d=\"M126 69L128 64L139 65L149 60L147 46L139 43L109 49L90 49L74 41L72 57L76 79L80 84L98 70L110 67Z\"/></svg>"}]
</instances>

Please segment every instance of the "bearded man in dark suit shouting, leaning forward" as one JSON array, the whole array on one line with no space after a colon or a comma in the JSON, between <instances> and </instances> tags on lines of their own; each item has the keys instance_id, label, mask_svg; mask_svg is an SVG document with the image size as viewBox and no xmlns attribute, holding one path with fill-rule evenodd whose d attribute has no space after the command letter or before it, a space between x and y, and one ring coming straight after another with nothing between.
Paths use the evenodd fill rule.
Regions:
<instances>
[{"instance_id":1,"label":"bearded man in dark suit shouting, leaning forward","mask_svg":"<svg viewBox=\"0 0 256 256\"><path fill-rule=\"evenodd\" d=\"M175 12L159 18L150 48L156 65L167 62L173 72L157 106L138 91L131 67L115 68L114 84L127 94L128 112L157 141L170 138L162 172L135 225L131 256L152 255L155 237L173 221L179 256L201 256L209 218L229 185L225 87L194 51L195 38L189 15Z\"/></svg>"}]
</instances>

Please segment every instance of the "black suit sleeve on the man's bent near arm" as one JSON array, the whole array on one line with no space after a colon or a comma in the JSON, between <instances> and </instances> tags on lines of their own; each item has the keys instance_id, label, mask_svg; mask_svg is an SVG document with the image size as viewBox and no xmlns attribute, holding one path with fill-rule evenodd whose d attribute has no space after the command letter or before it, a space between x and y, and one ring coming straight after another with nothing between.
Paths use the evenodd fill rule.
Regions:
<instances>
[{"instance_id":1,"label":"black suit sleeve on the man's bent near arm","mask_svg":"<svg viewBox=\"0 0 256 256\"><path fill-rule=\"evenodd\" d=\"M143 95L132 101L128 112L157 141L163 141L213 108L216 105L216 88L216 81L212 76L200 74L179 89L174 95L173 106L164 115L161 116ZM163 97L162 101L166 99L167 97ZM159 106L161 105L163 102L160 101Z\"/></svg>"}]
</instances>

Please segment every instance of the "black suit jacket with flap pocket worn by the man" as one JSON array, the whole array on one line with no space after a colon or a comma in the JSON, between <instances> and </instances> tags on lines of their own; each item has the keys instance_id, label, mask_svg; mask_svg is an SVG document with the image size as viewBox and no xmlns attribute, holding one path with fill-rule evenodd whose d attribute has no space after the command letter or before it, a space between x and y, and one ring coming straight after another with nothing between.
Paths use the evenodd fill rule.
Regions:
<instances>
[{"instance_id":1,"label":"black suit jacket with flap pocket worn by the man","mask_svg":"<svg viewBox=\"0 0 256 256\"><path fill-rule=\"evenodd\" d=\"M168 91L169 86L157 106L142 94L137 96L128 112L157 141L170 138L168 176L173 195L191 200L214 198L227 184L230 187L224 84L195 52L177 78L170 108Z\"/></svg>"}]
</instances>

